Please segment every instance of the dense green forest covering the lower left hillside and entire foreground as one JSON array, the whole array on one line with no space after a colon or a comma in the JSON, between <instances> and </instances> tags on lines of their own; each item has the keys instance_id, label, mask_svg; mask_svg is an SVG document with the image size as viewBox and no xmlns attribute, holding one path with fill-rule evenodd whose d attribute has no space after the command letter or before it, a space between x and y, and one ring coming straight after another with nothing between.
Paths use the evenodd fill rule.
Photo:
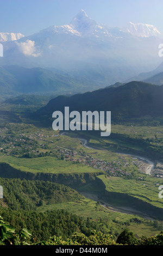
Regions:
<instances>
[{"instance_id":1,"label":"dense green forest covering the lower left hillside and entire foreground","mask_svg":"<svg viewBox=\"0 0 163 256\"><path fill-rule=\"evenodd\" d=\"M49 181L0 178L0 245L162 245L162 233L136 239L123 223L123 231L112 236L106 220L79 217L67 210L37 211L40 206L78 201L83 196L70 187ZM98 208L98 204L97 204ZM122 224L122 223L121 223ZM157 223L156 223L157 224ZM96 231L95 231L96 230Z\"/></svg>"}]
</instances>

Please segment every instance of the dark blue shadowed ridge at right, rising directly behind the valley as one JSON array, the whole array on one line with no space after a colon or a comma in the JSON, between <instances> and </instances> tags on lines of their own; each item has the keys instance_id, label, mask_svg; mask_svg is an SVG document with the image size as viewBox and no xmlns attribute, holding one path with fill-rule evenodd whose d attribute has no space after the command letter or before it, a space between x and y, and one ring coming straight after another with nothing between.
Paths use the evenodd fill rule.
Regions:
<instances>
[{"instance_id":1,"label":"dark blue shadowed ridge at right, rising directly behind the valley","mask_svg":"<svg viewBox=\"0 0 163 256\"><path fill-rule=\"evenodd\" d=\"M145 82L129 82L117 87L98 89L72 96L58 96L40 108L36 115L48 119L54 111L111 111L112 121L131 121L137 118L154 119L163 116L163 86Z\"/></svg>"}]
</instances>

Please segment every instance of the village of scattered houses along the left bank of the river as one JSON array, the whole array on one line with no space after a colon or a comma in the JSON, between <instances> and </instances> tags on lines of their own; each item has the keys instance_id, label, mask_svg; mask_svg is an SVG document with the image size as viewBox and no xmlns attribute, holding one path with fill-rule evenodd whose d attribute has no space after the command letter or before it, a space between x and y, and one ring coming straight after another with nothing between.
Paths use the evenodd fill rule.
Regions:
<instances>
[{"instance_id":1,"label":"village of scattered houses along the left bank of the river","mask_svg":"<svg viewBox=\"0 0 163 256\"><path fill-rule=\"evenodd\" d=\"M102 170L111 176L128 176L130 173L126 170L129 164L124 157L119 157L120 161L105 161L86 154L82 149L74 147L61 147L57 142L60 141L60 135L57 133L43 132L20 132L10 134L5 127L0 131L0 153L16 157L57 157L58 160L71 161L77 164L84 164L95 169ZM134 164L141 173L145 173L147 163L139 161L135 157L130 164ZM155 173L158 175L158 173Z\"/></svg>"}]
</instances>

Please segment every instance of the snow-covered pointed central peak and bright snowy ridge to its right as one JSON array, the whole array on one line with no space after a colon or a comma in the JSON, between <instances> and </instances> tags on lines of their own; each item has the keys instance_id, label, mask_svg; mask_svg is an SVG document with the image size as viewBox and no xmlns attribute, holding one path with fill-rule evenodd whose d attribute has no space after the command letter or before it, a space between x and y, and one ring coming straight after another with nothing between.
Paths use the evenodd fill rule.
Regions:
<instances>
[{"instance_id":1,"label":"snow-covered pointed central peak and bright snowy ridge to its right","mask_svg":"<svg viewBox=\"0 0 163 256\"><path fill-rule=\"evenodd\" d=\"M40 33L59 33L77 35L80 37L92 37L100 39L115 39L127 36L127 33L134 36L149 37L158 36L160 32L153 25L129 22L125 28L111 28L107 25L101 25L92 20L82 9L72 19L70 24L63 26L51 26L40 31Z\"/></svg>"}]
</instances>

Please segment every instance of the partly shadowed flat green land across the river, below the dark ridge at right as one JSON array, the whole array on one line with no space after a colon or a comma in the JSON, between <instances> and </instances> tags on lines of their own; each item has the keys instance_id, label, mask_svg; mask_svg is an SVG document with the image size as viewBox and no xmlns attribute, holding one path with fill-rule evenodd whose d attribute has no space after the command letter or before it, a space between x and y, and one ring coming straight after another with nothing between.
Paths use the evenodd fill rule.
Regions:
<instances>
[{"instance_id":1,"label":"partly shadowed flat green land across the river, below the dark ridge at right","mask_svg":"<svg viewBox=\"0 0 163 256\"><path fill-rule=\"evenodd\" d=\"M163 162L163 126L111 125L111 135L98 131L75 131L70 136L85 137L91 147L146 156Z\"/></svg>"}]
</instances>

